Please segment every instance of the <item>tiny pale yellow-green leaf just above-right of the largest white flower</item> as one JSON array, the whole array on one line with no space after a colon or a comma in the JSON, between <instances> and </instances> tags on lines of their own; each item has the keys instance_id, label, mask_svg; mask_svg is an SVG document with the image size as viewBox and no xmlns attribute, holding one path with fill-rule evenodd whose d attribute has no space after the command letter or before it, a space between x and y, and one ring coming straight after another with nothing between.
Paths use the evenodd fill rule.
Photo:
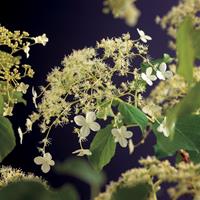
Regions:
<instances>
[{"instance_id":1,"label":"tiny pale yellow-green leaf just above-right of the largest white flower","mask_svg":"<svg viewBox=\"0 0 200 200\"><path fill-rule=\"evenodd\" d=\"M97 112L97 118L106 120L109 116L114 116L112 111L112 101L106 100L99 105L99 111Z\"/></svg>"}]
</instances>

